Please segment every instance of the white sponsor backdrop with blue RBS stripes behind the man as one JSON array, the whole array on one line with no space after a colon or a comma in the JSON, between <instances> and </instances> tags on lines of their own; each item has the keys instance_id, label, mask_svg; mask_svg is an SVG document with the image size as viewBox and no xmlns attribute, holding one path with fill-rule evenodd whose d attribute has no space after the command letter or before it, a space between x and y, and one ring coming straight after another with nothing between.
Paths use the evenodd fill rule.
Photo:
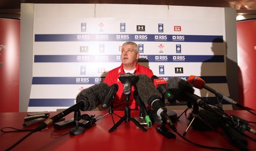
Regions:
<instances>
[{"instance_id":1,"label":"white sponsor backdrop with blue RBS stripes behind the man","mask_svg":"<svg viewBox=\"0 0 256 151\"><path fill-rule=\"evenodd\" d=\"M154 75L165 80L201 76L229 96L225 39L225 8L33 4L28 111L56 111L75 104L81 90L103 82L108 71L120 66L125 41L138 43L139 62ZM195 94L216 103L214 94L205 90L195 89Z\"/></svg>"}]
</instances>

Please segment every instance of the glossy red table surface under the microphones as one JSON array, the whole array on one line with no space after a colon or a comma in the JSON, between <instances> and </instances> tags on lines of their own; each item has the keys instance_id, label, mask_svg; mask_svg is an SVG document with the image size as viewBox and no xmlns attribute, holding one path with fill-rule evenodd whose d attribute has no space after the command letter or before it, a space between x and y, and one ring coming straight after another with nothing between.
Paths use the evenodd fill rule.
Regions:
<instances>
[{"instance_id":1,"label":"glossy red table surface under the microphones","mask_svg":"<svg viewBox=\"0 0 256 151\"><path fill-rule=\"evenodd\" d=\"M173 110L179 116L183 110ZM186 114L183 114L180 119L175 122L175 127L177 132L181 135L184 133L188 127L188 114L191 110L188 110ZM255 111L253 111L255 112ZM51 112L50 117L56 115L57 111ZM81 111L81 115L95 115L95 117L100 115L106 115L106 111ZM114 111L120 117L124 116L124 111ZM226 111L228 114L237 115L244 120L249 120L255 122L255 115L252 115L246 110L233 110ZM17 129L33 129L33 127L23 127L24 117L26 117L26 112L10 112L10 113L0 113L0 128L3 127L15 127ZM112 114L115 123L120 120L120 117ZM131 111L131 117L138 117L138 111ZM74 113L68 114L65 119L73 118ZM165 138L163 135L157 133L156 126L159 124L155 123L152 127L147 128L146 132L143 132L134 122L122 122L120 126L117 127L116 131L109 133L108 130L113 127L113 120L111 114L107 114L102 119L98 120L95 125L90 128L86 128L83 134L79 135L62 135L53 136L51 133L55 131L53 126L47 127L44 131L38 131L31 134L20 142L12 150L212 150L208 148L198 147L188 141L182 139L178 134L175 134L176 138ZM255 125L254 125L255 126ZM63 129L56 132L55 134L65 134L68 133L70 128ZM0 132L0 150L6 150L11 147L17 141L22 139L29 132L15 132L15 133L3 133ZM248 134L253 139L256 136L248 131L244 134ZM234 144L232 144L225 133L218 129L215 131L196 131L190 128L186 133L185 138L200 145L227 148L230 150L239 150ZM256 143L249 138L247 147L249 150L256 150Z\"/></svg>"}]
</instances>

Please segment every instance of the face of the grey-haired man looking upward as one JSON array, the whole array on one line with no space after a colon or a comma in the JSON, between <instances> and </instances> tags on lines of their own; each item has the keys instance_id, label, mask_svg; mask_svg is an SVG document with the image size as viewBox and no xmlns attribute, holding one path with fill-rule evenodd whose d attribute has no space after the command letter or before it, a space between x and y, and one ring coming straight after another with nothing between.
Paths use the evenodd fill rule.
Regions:
<instances>
[{"instance_id":1,"label":"face of the grey-haired man looking upward","mask_svg":"<svg viewBox=\"0 0 256 151\"><path fill-rule=\"evenodd\" d=\"M124 45L121 50L121 58L123 64L136 64L140 57L139 53L134 50L134 45Z\"/></svg>"}]
</instances>

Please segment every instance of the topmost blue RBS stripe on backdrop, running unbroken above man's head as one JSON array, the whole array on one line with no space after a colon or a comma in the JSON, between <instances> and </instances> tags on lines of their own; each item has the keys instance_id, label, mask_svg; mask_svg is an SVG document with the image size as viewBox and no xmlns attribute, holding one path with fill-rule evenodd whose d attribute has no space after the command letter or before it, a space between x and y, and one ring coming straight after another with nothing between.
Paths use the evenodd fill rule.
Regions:
<instances>
[{"instance_id":1,"label":"topmost blue RBS stripe on backdrop, running unbroken above man's head","mask_svg":"<svg viewBox=\"0 0 256 151\"><path fill-rule=\"evenodd\" d=\"M179 34L35 34L35 42L47 41L161 41L161 42L210 42L223 43L220 35L179 35Z\"/></svg>"}]
</instances>

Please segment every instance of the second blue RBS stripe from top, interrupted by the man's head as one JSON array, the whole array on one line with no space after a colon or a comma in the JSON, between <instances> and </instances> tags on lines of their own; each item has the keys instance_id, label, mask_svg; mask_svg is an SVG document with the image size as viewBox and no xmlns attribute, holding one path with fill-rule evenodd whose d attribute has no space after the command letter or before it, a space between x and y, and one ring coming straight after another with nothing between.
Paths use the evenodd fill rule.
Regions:
<instances>
[{"instance_id":1,"label":"second blue RBS stripe from top, interrupted by the man's head","mask_svg":"<svg viewBox=\"0 0 256 151\"><path fill-rule=\"evenodd\" d=\"M224 62L224 55L141 55L139 62ZM35 55L35 62L121 62L120 55Z\"/></svg>"}]
</instances>

